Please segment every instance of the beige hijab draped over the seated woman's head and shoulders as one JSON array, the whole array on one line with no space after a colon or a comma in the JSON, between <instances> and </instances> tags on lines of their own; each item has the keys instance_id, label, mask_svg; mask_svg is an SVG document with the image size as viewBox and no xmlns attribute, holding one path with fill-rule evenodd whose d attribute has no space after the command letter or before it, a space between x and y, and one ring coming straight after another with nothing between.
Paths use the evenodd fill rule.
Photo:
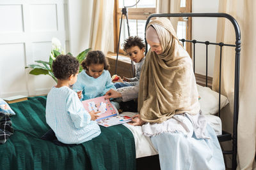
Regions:
<instances>
[{"instance_id":1,"label":"beige hijab draped over the seated woman's head and shoulders","mask_svg":"<svg viewBox=\"0 0 256 170\"><path fill-rule=\"evenodd\" d=\"M167 18L152 20L163 53L148 50L140 75L138 112L145 122L161 123L173 115L200 110L192 61ZM146 36L147 37L147 36Z\"/></svg>"}]
</instances>

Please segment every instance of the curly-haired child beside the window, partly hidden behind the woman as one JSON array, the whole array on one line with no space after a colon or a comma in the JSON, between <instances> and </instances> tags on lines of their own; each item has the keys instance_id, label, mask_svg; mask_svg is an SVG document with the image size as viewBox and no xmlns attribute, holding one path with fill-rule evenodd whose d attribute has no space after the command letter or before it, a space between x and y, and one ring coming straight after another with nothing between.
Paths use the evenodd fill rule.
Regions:
<instances>
[{"instance_id":1,"label":"curly-haired child beside the window, partly hidden behind the woman","mask_svg":"<svg viewBox=\"0 0 256 170\"><path fill-rule=\"evenodd\" d=\"M135 77L134 78L120 78L115 82L114 85L116 89L121 87L128 87L128 86L136 86L140 80L140 71L141 67L143 66L145 57L145 44L143 40L138 36L130 36L129 38L125 39L124 43L124 51L129 55L130 59L135 62Z\"/></svg>"}]
</instances>

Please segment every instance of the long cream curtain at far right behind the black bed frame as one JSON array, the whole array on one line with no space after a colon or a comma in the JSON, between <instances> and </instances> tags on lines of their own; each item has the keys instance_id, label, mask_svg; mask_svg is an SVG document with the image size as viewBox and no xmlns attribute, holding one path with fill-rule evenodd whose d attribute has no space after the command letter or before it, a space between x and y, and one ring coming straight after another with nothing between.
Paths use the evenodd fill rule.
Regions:
<instances>
[{"instance_id":1,"label":"long cream curtain at far right behind the black bed frame","mask_svg":"<svg viewBox=\"0 0 256 170\"><path fill-rule=\"evenodd\" d=\"M241 64L239 90L239 119L237 169L256 169L256 1L219 1L219 12L236 18L241 29ZM218 19L217 41L235 42L235 32L228 20ZM221 111L223 129L232 132L234 101L234 48L223 48L221 66L221 92L228 96L230 104ZM220 50L216 50L215 66L219 67ZM214 71L214 89L218 89L218 69Z\"/></svg>"}]
</instances>

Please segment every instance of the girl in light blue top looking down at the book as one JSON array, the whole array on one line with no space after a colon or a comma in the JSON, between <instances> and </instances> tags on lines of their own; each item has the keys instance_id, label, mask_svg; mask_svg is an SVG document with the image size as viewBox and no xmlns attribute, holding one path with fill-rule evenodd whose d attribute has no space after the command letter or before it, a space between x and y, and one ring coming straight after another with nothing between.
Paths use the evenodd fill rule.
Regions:
<instances>
[{"instance_id":1,"label":"girl in light blue top looking down at the book","mask_svg":"<svg viewBox=\"0 0 256 170\"><path fill-rule=\"evenodd\" d=\"M73 90L77 92L82 101L95 97L104 96L110 89L116 89L112 83L108 71L109 64L104 53L101 51L91 51L82 64L83 71L78 74L77 81L73 85ZM119 108L119 104L111 101Z\"/></svg>"}]
</instances>

